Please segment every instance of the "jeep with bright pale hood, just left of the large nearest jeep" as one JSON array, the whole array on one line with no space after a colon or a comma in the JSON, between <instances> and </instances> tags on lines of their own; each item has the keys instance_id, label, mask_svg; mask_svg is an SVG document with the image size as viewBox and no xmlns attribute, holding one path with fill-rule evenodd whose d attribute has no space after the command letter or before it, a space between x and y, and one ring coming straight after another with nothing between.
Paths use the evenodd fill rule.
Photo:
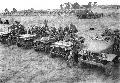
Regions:
<instances>
[{"instance_id":1,"label":"jeep with bright pale hood, just left of the large nearest jeep","mask_svg":"<svg viewBox=\"0 0 120 83\"><path fill-rule=\"evenodd\" d=\"M50 57L62 57L65 60L68 60L70 51L72 50L73 43L68 41L58 41L51 45L52 49L50 52Z\"/></svg>"}]
</instances>

